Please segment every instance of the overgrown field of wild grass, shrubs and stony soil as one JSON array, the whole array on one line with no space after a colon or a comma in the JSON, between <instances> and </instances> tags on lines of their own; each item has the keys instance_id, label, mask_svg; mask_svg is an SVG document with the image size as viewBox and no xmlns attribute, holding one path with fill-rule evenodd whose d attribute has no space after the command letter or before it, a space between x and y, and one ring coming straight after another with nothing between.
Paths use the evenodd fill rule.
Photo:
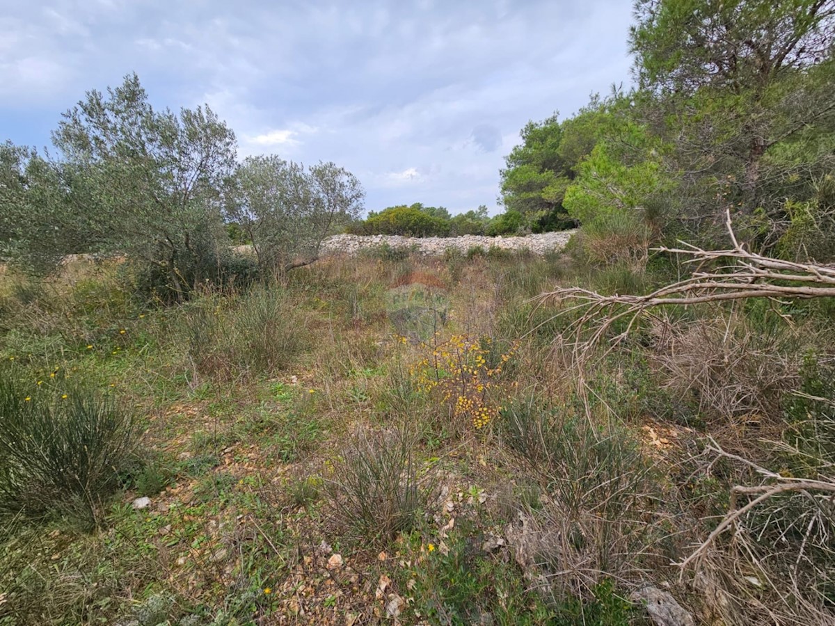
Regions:
<instances>
[{"instance_id":1,"label":"overgrown field of wild grass, shrubs and stony soil","mask_svg":"<svg viewBox=\"0 0 835 626\"><path fill-rule=\"evenodd\" d=\"M705 543L732 487L831 484L831 299L659 309L579 360L537 296L668 260L382 252L177 305L116 263L0 275L0 624L652 623L647 587L835 621L831 493Z\"/></svg>"}]
</instances>

